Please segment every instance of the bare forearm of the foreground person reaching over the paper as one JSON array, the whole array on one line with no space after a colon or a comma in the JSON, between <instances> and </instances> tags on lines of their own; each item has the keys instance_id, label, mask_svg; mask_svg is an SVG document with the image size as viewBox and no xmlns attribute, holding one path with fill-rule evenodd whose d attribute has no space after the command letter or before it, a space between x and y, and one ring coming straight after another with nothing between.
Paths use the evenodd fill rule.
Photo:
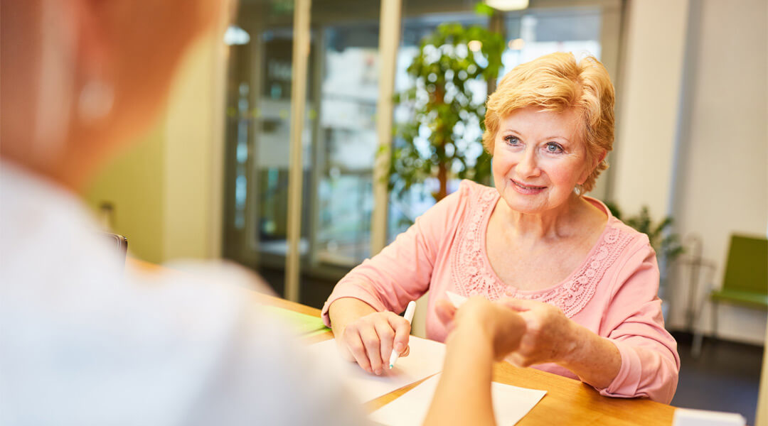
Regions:
<instances>
[{"instance_id":1,"label":"bare forearm of the foreground person reaching over the paper","mask_svg":"<svg viewBox=\"0 0 768 426\"><path fill-rule=\"evenodd\" d=\"M495 424L490 339L465 327L451 333L446 343L442 377L424 424Z\"/></svg>"}]
</instances>

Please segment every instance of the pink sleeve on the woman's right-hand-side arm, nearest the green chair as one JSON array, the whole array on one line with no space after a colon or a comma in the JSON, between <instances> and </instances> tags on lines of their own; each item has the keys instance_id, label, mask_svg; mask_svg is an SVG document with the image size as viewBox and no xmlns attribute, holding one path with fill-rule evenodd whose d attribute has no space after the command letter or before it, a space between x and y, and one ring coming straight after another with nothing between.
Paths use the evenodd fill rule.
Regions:
<instances>
[{"instance_id":1,"label":"pink sleeve on the woman's right-hand-side arm, nearest the green chair","mask_svg":"<svg viewBox=\"0 0 768 426\"><path fill-rule=\"evenodd\" d=\"M604 318L607 337L621 353L621 369L611 385L598 390L601 395L669 404L677 388L680 356L677 342L664 329L656 254L643 237L618 272Z\"/></svg>"}]
</instances>

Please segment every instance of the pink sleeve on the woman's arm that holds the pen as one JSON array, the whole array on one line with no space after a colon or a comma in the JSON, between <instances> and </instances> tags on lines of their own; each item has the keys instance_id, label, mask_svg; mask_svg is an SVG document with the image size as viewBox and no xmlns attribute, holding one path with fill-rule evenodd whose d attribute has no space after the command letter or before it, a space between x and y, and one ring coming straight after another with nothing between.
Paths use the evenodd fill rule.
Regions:
<instances>
[{"instance_id":1,"label":"pink sleeve on the woman's arm that holds the pen","mask_svg":"<svg viewBox=\"0 0 768 426\"><path fill-rule=\"evenodd\" d=\"M399 234L379 254L349 271L326 300L323 322L330 326L328 308L337 299L354 297L382 312L401 313L411 300L429 290L441 242L455 229L466 202L468 185L429 208L408 231Z\"/></svg>"}]
</instances>

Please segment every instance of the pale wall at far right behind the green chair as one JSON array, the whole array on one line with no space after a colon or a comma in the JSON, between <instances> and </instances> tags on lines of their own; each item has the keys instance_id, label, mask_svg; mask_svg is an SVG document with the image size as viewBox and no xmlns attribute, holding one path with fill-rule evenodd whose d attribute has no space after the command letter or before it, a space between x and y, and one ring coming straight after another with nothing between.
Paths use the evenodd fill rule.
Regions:
<instances>
[{"instance_id":1,"label":"pale wall at far right behind the green chair","mask_svg":"<svg viewBox=\"0 0 768 426\"><path fill-rule=\"evenodd\" d=\"M768 7L765 0L698 0L696 6L690 123L680 144L674 215L680 234L702 238L720 287L730 234L764 237L768 228ZM678 290L687 290L680 284ZM687 291L675 295L682 302ZM721 303L719 312L720 336L764 341L765 311ZM682 323L682 310L674 313L673 323Z\"/></svg>"}]
</instances>

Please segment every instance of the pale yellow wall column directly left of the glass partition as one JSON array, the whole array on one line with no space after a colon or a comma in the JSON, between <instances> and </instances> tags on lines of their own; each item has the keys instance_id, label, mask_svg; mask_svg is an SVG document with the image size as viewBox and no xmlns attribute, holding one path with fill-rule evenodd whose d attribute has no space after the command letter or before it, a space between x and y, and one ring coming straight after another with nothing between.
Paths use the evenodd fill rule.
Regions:
<instances>
[{"instance_id":1,"label":"pale yellow wall column directly left of the glass partition","mask_svg":"<svg viewBox=\"0 0 768 426\"><path fill-rule=\"evenodd\" d=\"M220 255L223 49L196 44L170 93L164 145L164 259Z\"/></svg>"}]
</instances>

